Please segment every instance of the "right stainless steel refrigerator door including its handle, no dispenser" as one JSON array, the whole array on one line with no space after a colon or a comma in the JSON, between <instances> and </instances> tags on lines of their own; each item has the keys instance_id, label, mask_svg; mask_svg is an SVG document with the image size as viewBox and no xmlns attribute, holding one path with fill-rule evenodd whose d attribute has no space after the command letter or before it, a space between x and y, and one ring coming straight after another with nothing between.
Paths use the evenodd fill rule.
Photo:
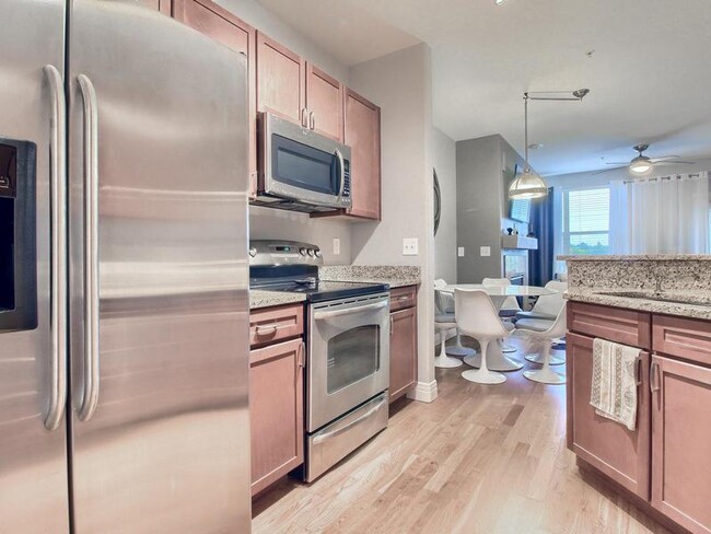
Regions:
<instances>
[{"instance_id":1,"label":"right stainless steel refrigerator door including its handle, no dispenser","mask_svg":"<svg viewBox=\"0 0 711 534\"><path fill-rule=\"evenodd\" d=\"M136 2L69 27L75 532L249 532L246 61Z\"/></svg>"}]
</instances>

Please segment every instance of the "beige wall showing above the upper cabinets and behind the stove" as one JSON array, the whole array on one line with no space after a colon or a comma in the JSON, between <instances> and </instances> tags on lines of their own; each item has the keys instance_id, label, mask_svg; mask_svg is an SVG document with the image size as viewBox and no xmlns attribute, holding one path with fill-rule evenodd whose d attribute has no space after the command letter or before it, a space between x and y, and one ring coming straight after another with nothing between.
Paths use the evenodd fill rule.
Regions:
<instances>
[{"instance_id":1,"label":"beige wall showing above the upper cabinets and behind the stove","mask_svg":"<svg viewBox=\"0 0 711 534\"><path fill-rule=\"evenodd\" d=\"M348 67L318 48L284 21L254 0L215 0L247 24L269 35L324 71L348 82ZM340 255L334 255L334 237L340 240ZM249 207L249 239L283 239L313 243L324 252L327 264L348 264L351 260L350 224L345 221L311 219L307 213L295 213L270 208Z\"/></svg>"}]
</instances>

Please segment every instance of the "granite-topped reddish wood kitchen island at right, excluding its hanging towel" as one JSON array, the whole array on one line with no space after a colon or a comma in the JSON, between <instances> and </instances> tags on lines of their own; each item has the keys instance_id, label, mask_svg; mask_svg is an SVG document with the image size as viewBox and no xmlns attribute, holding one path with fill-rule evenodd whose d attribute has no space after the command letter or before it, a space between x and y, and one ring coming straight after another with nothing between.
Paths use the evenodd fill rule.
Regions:
<instances>
[{"instance_id":1,"label":"granite-topped reddish wood kitchen island at right, excluding its hanging towel","mask_svg":"<svg viewBox=\"0 0 711 534\"><path fill-rule=\"evenodd\" d=\"M568 264L568 448L674 532L711 533L711 257ZM634 430L591 406L594 339L639 348ZM633 384L633 383L632 383Z\"/></svg>"}]
</instances>

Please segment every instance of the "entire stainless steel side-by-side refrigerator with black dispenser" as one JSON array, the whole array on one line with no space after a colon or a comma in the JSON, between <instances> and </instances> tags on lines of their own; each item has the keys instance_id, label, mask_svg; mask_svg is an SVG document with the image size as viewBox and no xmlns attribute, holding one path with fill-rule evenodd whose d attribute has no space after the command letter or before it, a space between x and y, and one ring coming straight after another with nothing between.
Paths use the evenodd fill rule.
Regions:
<instances>
[{"instance_id":1,"label":"entire stainless steel side-by-side refrigerator with black dispenser","mask_svg":"<svg viewBox=\"0 0 711 534\"><path fill-rule=\"evenodd\" d=\"M0 1L0 532L249 532L245 59Z\"/></svg>"}]
</instances>

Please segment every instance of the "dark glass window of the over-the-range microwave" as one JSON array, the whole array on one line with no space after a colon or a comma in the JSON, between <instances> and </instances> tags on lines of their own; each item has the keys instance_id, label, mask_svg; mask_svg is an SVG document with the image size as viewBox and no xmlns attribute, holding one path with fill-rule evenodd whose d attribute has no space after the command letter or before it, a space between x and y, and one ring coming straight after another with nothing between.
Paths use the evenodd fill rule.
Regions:
<instances>
[{"instance_id":1,"label":"dark glass window of the over-the-range microwave","mask_svg":"<svg viewBox=\"0 0 711 534\"><path fill-rule=\"evenodd\" d=\"M338 159L306 144L272 136L272 176L283 183L311 191L338 195Z\"/></svg>"}]
</instances>

